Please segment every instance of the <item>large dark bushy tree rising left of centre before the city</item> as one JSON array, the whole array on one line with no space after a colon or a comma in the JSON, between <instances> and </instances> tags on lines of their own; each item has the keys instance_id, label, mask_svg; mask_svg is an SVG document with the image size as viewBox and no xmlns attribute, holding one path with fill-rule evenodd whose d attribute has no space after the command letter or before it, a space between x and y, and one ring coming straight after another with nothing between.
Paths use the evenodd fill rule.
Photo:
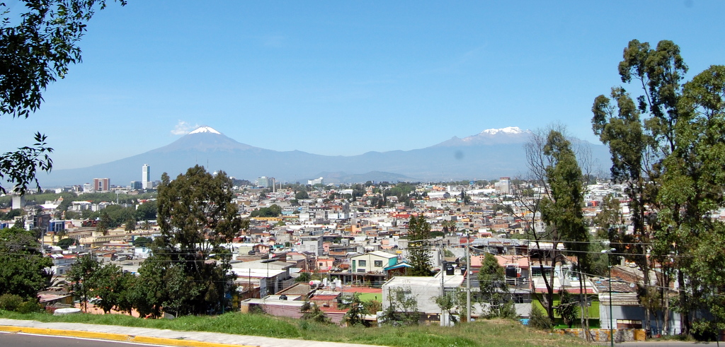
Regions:
<instances>
[{"instance_id":1,"label":"large dark bushy tree rising left of centre before the city","mask_svg":"<svg viewBox=\"0 0 725 347\"><path fill-rule=\"evenodd\" d=\"M231 179L197 165L175 180L164 173L158 191L161 236L154 239L154 259L149 260L165 262L161 273L166 288L160 296L166 300L165 311L223 312L236 278L230 275L231 254L223 243L231 242L242 227ZM212 253L220 259L210 261Z\"/></svg>"}]
</instances>

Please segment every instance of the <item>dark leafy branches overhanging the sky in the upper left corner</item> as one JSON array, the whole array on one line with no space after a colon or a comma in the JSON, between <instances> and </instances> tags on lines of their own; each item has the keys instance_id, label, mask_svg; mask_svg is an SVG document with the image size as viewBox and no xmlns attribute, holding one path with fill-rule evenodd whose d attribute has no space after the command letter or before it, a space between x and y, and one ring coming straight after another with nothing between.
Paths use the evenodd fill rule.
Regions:
<instances>
[{"instance_id":1,"label":"dark leafy branches overhanging the sky in the upper left corner","mask_svg":"<svg viewBox=\"0 0 725 347\"><path fill-rule=\"evenodd\" d=\"M0 114L27 118L43 101L43 91L58 78L65 78L68 66L80 62L78 42L86 22L104 0L25 0L25 12L11 16L11 7L0 3L4 18L0 24ZM125 4L125 0L120 0ZM18 18L13 25L10 17ZM40 185L36 170L50 172L53 151L46 135L36 133L32 146L0 154L0 182L25 193L28 185ZM0 192L7 193L0 185Z\"/></svg>"}]
</instances>

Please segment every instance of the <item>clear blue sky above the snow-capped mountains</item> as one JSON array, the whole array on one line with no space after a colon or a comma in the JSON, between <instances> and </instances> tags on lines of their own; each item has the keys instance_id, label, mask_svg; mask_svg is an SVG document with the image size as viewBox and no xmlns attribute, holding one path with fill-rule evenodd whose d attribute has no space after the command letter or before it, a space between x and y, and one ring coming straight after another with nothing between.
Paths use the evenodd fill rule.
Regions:
<instances>
[{"instance_id":1,"label":"clear blue sky above the snow-capped mountains","mask_svg":"<svg viewBox=\"0 0 725 347\"><path fill-rule=\"evenodd\" d=\"M631 39L674 41L690 77L725 64L725 1L553 2L112 3L41 110L0 117L0 151L41 131L57 169L87 167L194 125L326 155L552 123L595 142L592 101L621 83Z\"/></svg>"}]
</instances>

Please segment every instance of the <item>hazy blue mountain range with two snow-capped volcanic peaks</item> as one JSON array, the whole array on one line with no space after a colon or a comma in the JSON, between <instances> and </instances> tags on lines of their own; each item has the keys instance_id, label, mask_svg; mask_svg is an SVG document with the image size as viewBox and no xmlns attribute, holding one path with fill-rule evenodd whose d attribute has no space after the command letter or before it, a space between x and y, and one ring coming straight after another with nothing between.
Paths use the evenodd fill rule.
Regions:
<instances>
[{"instance_id":1,"label":"hazy blue mountain range with two snow-capped volcanic peaks","mask_svg":"<svg viewBox=\"0 0 725 347\"><path fill-rule=\"evenodd\" d=\"M323 156L303 151L273 151L239 143L212 127L199 127L177 141L144 154L105 164L54 170L40 177L43 187L90 182L107 177L113 185L141 180L141 167L151 166L152 180L162 172L170 177L195 164L207 170L254 181L276 177L278 182L300 182L324 177L326 183L372 181L446 181L492 179L526 174L523 144L531 132L518 127L484 130L466 138L453 137L424 149L368 152L357 156ZM589 145L595 162L609 167L605 146Z\"/></svg>"}]
</instances>

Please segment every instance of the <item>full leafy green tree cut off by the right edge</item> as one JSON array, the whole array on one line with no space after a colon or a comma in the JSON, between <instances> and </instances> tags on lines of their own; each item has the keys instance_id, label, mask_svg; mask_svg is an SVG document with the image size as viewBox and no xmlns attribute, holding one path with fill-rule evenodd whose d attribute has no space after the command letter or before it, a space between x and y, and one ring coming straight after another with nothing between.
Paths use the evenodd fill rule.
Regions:
<instances>
[{"instance_id":1,"label":"full leafy green tree cut off by the right edge","mask_svg":"<svg viewBox=\"0 0 725 347\"><path fill-rule=\"evenodd\" d=\"M718 209L725 207L725 67L711 66L684 85L679 119L674 127L675 151L663 166L661 198L664 222L674 229L679 306L683 320L707 308L720 329L725 327L725 224ZM673 206L678 206L674 210ZM682 275L681 275L682 274ZM689 330L689 326L685 327Z\"/></svg>"}]
</instances>

